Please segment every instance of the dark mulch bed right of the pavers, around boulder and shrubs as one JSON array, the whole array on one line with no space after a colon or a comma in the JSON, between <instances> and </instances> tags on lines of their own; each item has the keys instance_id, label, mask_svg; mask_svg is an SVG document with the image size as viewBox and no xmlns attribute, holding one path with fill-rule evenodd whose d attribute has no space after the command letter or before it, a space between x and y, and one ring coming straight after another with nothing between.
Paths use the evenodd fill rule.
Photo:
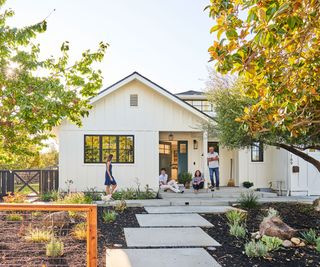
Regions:
<instances>
[{"instance_id":1,"label":"dark mulch bed right of the pavers, around boulder and shrubs","mask_svg":"<svg viewBox=\"0 0 320 267\"><path fill-rule=\"evenodd\" d=\"M259 230L259 224L269 207L278 210L281 218L291 227L303 231L310 228L320 233L320 213L315 212L310 205L296 203L269 203L248 211L247 228L250 233ZM222 266L228 267L304 267L320 266L320 253L310 247L281 248L270 253L270 257L248 258L244 254L244 242L229 234L229 227L224 215L203 215L214 227L204 228L209 235L222 246L214 251L208 251Z\"/></svg>"}]
</instances>

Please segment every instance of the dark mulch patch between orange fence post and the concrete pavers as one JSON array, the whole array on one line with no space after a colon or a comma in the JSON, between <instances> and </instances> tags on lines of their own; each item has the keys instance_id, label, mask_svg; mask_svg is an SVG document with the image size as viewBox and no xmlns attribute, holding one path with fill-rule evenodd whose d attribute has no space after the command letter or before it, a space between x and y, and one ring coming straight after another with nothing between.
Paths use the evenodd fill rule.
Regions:
<instances>
[{"instance_id":1,"label":"dark mulch patch between orange fence post and the concrete pavers","mask_svg":"<svg viewBox=\"0 0 320 267\"><path fill-rule=\"evenodd\" d=\"M99 266L105 266L106 248L121 246L126 248L123 228L139 227L135 214L146 213L144 208L127 208L123 213L117 215L113 223L104 223L102 219L103 210L112 210L111 207L98 208L98 254Z\"/></svg>"}]
</instances>

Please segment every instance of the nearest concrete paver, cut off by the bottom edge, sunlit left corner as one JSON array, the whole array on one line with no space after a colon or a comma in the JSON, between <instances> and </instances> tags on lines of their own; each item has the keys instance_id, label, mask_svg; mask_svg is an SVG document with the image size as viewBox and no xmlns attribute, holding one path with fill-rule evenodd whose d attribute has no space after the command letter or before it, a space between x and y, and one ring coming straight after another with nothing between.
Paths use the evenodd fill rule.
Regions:
<instances>
[{"instance_id":1,"label":"nearest concrete paver, cut off by the bottom edge, sunlit left corner","mask_svg":"<svg viewBox=\"0 0 320 267\"><path fill-rule=\"evenodd\" d=\"M107 249L106 267L220 267L203 248Z\"/></svg>"}]
</instances>

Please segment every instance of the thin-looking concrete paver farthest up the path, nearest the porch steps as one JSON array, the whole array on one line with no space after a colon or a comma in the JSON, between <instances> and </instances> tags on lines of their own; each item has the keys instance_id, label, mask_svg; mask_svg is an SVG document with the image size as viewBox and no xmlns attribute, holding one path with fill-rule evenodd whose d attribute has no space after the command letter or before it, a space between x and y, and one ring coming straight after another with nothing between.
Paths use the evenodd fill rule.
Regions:
<instances>
[{"instance_id":1,"label":"thin-looking concrete paver farthest up the path, nearest the porch steps","mask_svg":"<svg viewBox=\"0 0 320 267\"><path fill-rule=\"evenodd\" d=\"M148 213L225 213L235 209L230 206L167 206L145 207Z\"/></svg>"}]
</instances>

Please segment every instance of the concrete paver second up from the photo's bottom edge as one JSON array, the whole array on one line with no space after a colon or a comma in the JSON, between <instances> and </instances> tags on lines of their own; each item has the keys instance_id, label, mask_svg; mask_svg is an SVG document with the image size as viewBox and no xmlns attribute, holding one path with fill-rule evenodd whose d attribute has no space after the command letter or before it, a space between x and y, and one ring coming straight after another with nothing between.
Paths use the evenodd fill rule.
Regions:
<instances>
[{"instance_id":1,"label":"concrete paver second up from the photo's bottom edge","mask_svg":"<svg viewBox=\"0 0 320 267\"><path fill-rule=\"evenodd\" d=\"M128 247L209 247L220 244L199 227L124 228Z\"/></svg>"}]
</instances>

